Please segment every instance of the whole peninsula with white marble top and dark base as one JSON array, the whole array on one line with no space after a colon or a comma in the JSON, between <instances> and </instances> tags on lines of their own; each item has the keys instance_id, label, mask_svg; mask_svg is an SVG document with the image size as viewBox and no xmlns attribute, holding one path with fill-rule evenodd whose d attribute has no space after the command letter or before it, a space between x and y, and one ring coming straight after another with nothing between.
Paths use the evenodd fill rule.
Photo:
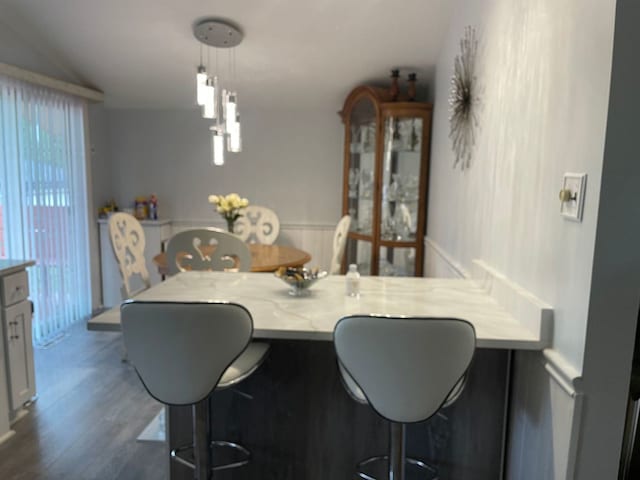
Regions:
<instances>
[{"instance_id":1,"label":"whole peninsula with white marble top and dark base","mask_svg":"<svg viewBox=\"0 0 640 480\"><path fill-rule=\"evenodd\" d=\"M333 330L354 314L461 318L474 326L477 348L463 394L445 416L409 425L407 436L414 451L442 466L442 478L502 478L513 354L547 347L550 319L534 325L524 313L516 317L470 279L363 276L360 295L350 297L345 276L329 275L305 296L289 291L269 273L182 272L133 299L239 303L251 313L253 337L271 344L242 395L212 396L214 412L242 412L214 415L214 435L256 446L238 479L348 478L357 460L386 449L387 427L348 396L336 367ZM119 308L92 318L88 328L119 331ZM189 441L190 422L188 407L167 407L170 448ZM179 464L169 468L171 480L193 478Z\"/></svg>"}]
</instances>

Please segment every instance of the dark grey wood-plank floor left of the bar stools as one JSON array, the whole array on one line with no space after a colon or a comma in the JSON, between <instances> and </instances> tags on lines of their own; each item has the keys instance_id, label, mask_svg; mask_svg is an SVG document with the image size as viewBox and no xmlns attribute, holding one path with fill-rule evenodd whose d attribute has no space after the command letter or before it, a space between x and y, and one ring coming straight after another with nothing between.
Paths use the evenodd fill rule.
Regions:
<instances>
[{"instance_id":1,"label":"dark grey wood-plank floor left of the bar stools","mask_svg":"<svg viewBox=\"0 0 640 480\"><path fill-rule=\"evenodd\" d=\"M38 399L0 445L0 479L166 478L164 445L136 441L160 404L121 361L121 335L68 333L35 350Z\"/></svg>"}]
</instances>

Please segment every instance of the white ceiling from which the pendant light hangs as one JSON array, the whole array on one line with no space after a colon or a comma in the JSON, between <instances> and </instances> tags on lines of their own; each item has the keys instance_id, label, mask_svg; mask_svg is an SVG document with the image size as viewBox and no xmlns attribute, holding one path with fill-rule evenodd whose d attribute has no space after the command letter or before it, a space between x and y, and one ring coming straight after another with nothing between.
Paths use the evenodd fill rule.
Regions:
<instances>
[{"instance_id":1,"label":"white ceiling from which the pendant light hangs","mask_svg":"<svg viewBox=\"0 0 640 480\"><path fill-rule=\"evenodd\" d=\"M392 67L431 77L450 0L0 0L2 16L112 108L192 108L193 23L233 20L241 108L336 110ZM215 58L211 51L211 59ZM221 66L227 51L219 50ZM405 70L406 69L406 70ZM224 69L222 70L224 73ZM223 74L224 76L224 74Z\"/></svg>"}]
</instances>

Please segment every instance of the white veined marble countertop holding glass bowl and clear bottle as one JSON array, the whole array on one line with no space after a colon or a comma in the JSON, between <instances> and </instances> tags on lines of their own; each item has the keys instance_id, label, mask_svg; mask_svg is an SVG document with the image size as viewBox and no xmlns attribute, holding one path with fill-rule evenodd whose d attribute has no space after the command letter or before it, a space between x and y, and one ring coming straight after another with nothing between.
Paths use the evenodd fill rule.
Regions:
<instances>
[{"instance_id":1,"label":"white veined marble countertop holding glass bowl and clear bottle","mask_svg":"<svg viewBox=\"0 0 640 480\"><path fill-rule=\"evenodd\" d=\"M362 277L360 297L345 295L342 275L318 281L307 297L268 273L185 272L153 286L140 300L216 301L244 305L252 314L254 338L332 340L346 315L377 313L462 318L476 329L481 348L541 350L542 332L527 329L472 280ZM119 330L119 308L89 321L90 330Z\"/></svg>"}]
</instances>

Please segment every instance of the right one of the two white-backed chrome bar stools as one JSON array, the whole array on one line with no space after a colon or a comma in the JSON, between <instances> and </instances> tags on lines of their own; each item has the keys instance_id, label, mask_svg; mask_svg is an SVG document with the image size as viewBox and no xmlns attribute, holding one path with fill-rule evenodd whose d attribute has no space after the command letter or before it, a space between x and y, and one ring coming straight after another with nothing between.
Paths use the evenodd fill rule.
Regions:
<instances>
[{"instance_id":1,"label":"right one of the two white-backed chrome bar stools","mask_svg":"<svg viewBox=\"0 0 640 480\"><path fill-rule=\"evenodd\" d=\"M353 315L335 326L338 367L347 392L389 421L389 453L361 461L365 470L388 462L389 480L404 480L405 465L437 469L405 453L406 424L422 422L457 399L476 348L473 325L453 318Z\"/></svg>"}]
</instances>

